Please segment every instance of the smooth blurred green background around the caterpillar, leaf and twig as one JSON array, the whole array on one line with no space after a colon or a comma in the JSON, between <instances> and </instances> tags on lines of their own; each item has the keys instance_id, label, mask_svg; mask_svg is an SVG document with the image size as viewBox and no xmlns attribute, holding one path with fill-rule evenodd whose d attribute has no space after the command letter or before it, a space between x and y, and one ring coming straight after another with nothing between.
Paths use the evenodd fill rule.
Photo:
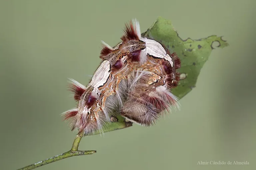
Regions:
<instances>
[{"instance_id":1,"label":"smooth blurred green background around the caterpillar, leaf and twig","mask_svg":"<svg viewBox=\"0 0 256 170\"><path fill-rule=\"evenodd\" d=\"M0 169L69 150L76 133L60 117L75 106L67 78L87 85L101 61L100 40L114 46L124 22L136 17L144 32L158 16L183 39L218 35L230 46L212 51L181 111L150 128L85 137L79 149L97 153L40 169L255 169L255 6L254 0L1 0Z\"/></svg>"}]
</instances>

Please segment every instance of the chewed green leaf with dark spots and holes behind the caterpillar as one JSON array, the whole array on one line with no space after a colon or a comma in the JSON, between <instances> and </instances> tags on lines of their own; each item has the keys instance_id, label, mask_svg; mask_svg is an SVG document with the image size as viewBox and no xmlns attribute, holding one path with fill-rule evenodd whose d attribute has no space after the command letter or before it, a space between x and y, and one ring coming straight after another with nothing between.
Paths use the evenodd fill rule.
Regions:
<instances>
[{"instance_id":1,"label":"chewed green leaf with dark spots and holes behind the caterpillar","mask_svg":"<svg viewBox=\"0 0 256 170\"><path fill-rule=\"evenodd\" d=\"M195 87L200 70L214 49L213 42L218 42L217 47L220 48L228 46L228 43L221 39L222 37L215 35L198 40L190 38L182 40L171 21L162 17L158 17L154 24L142 33L142 36L161 42L170 52L177 52L181 59L181 68L178 69L181 73L181 80L178 87L172 89L172 93L180 99ZM107 124L104 132L132 126L132 123L126 122L121 116L118 116L117 120L118 122ZM95 134L98 133L95 132Z\"/></svg>"}]
</instances>

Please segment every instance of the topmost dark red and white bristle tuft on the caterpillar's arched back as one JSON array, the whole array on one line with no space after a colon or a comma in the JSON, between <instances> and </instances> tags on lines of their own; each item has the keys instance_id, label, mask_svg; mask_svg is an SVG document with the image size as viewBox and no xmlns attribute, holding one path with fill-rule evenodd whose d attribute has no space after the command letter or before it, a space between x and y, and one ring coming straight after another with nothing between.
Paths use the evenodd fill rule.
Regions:
<instances>
[{"instance_id":1,"label":"topmost dark red and white bristle tuft on the caterpillar's arched back","mask_svg":"<svg viewBox=\"0 0 256 170\"><path fill-rule=\"evenodd\" d=\"M125 23L124 35L121 37L122 41L139 40L136 28L134 28L132 21L129 24Z\"/></svg>"}]
</instances>

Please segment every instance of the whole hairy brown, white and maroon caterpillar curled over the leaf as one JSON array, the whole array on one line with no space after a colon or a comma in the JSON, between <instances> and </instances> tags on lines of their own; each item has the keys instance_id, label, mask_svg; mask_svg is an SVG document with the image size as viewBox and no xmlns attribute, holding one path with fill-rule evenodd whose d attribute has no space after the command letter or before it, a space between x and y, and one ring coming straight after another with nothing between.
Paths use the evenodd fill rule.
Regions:
<instances>
[{"instance_id":1,"label":"whole hairy brown, white and maroon caterpillar curled over the leaf","mask_svg":"<svg viewBox=\"0 0 256 170\"><path fill-rule=\"evenodd\" d=\"M78 106L63 114L70 120L71 130L77 128L85 134L102 130L113 111L150 126L170 105L178 106L177 97L170 92L179 81L176 53L141 37L136 19L125 24L121 40L115 47L102 42L102 62L87 86L70 79Z\"/></svg>"}]
</instances>

